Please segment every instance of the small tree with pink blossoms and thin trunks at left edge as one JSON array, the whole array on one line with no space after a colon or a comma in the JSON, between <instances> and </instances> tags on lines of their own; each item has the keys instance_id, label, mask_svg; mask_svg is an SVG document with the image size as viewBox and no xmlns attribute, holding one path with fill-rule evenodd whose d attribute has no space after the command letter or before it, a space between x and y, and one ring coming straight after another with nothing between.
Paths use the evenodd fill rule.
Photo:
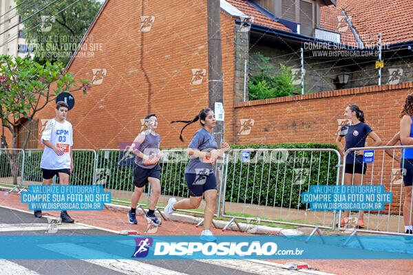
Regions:
<instances>
[{"instance_id":1,"label":"small tree with pink blossoms and thin trunks at left edge","mask_svg":"<svg viewBox=\"0 0 413 275\"><path fill-rule=\"evenodd\" d=\"M76 85L76 83L78 83ZM90 89L87 80L76 81L73 74L65 72L62 63L36 63L31 58L0 56L0 120L2 124L1 141L6 148L15 148L17 133L23 122L28 122L24 137L23 150L28 144L34 115L47 103L56 99L63 91L86 91ZM12 135L8 144L4 129ZM11 145L11 146L10 146ZM8 161L13 172L14 184L17 182L19 159L8 153Z\"/></svg>"}]
</instances>

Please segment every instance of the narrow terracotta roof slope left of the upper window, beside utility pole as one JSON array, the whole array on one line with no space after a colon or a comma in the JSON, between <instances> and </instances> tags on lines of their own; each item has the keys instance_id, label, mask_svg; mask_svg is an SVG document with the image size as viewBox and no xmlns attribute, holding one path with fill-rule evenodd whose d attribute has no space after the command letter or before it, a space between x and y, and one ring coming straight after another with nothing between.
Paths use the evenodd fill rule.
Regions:
<instances>
[{"instance_id":1,"label":"narrow terracotta roof slope left of the upper window, beside utility pole","mask_svg":"<svg viewBox=\"0 0 413 275\"><path fill-rule=\"evenodd\" d=\"M284 30L286 32L291 32L290 29L286 28L286 26L282 25L282 23L275 22L273 19L267 17L265 14L254 8L250 5L247 1L244 0L225 0L231 5L233 5L238 10L244 12L244 14L248 15L249 17L253 17L254 24L262 25L264 27L273 28L277 30Z\"/></svg>"}]
</instances>

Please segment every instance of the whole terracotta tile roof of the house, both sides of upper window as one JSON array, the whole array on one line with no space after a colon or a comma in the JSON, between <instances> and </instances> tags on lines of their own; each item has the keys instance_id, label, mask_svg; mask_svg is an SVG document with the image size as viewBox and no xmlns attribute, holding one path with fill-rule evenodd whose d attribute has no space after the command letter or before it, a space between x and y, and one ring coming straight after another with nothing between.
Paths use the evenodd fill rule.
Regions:
<instances>
[{"instance_id":1,"label":"whole terracotta tile roof of the house, both sides of upper window","mask_svg":"<svg viewBox=\"0 0 413 275\"><path fill-rule=\"evenodd\" d=\"M245 0L226 0L244 14L253 17L253 23L268 28L291 32L254 8ZM338 0L335 5L321 5L320 27L339 32L341 43L357 47L352 30L343 18L345 10L364 47L377 45L379 32L383 45L413 41L412 0Z\"/></svg>"}]
</instances>

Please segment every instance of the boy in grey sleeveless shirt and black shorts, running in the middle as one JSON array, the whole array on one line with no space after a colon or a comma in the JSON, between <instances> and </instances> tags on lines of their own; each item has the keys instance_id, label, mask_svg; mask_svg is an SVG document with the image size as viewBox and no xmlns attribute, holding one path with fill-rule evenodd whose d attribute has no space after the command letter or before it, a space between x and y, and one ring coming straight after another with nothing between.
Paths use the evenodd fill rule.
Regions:
<instances>
[{"instance_id":1,"label":"boy in grey sleeveless shirt and black shorts, running in the middle","mask_svg":"<svg viewBox=\"0 0 413 275\"><path fill-rule=\"evenodd\" d=\"M151 199L149 201L149 211L145 214L145 219L153 225L161 225L160 219L155 216L156 203L160 195L160 166L158 159L163 157L159 150L160 135L155 133L158 128L158 120L154 113L145 117L147 130L140 133L131 144L130 151L136 155L134 163L134 194L131 199L131 210L127 213L129 223L136 221L136 207L142 195L145 184L151 184Z\"/></svg>"}]
</instances>

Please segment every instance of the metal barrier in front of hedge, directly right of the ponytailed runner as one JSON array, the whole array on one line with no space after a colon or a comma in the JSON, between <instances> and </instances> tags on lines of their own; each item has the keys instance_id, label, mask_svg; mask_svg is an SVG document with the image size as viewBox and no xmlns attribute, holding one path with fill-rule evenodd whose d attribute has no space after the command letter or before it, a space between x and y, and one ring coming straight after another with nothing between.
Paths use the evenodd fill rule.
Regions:
<instances>
[{"instance_id":1,"label":"metal barrier in front of hedge, directly right of the ponytailed runner","mask_svg":"<svg viewBox=\"0 0 413 275\"><path fill-rule=\"evenodd\" d=\"M310 185L339 184L340 154L334 149L236 149L226 156L222 217L332 229L334 211L301 203Z\"/></svg>"}]
</instances>

